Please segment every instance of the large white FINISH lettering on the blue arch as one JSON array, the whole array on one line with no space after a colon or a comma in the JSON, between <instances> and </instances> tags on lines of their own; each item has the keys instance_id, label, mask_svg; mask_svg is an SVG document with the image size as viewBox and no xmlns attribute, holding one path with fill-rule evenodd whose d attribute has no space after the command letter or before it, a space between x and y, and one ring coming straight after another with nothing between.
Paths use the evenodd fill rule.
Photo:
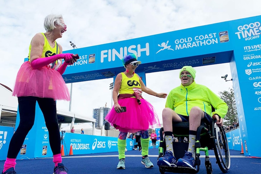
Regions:
<instances>
[{"instance_id":1,"label":"large white FINISH lettering on the blue arch","mask_svg":"<svg viewBox=\"0 0 261 174\"><path fill-rule=\"evenodd\" d=\"M120 60L124 55L127 55L129 53L136 54L138 57L140 57L141 52L145 51L146 56L150 55L150 47L149 43L145 44L145 48L141 48L141 45L130 45L129 47L121 47L119 48L119 52L116 49L109 49L109 50L102 50L101 51L101 63L104 62L104 58L108 58L108 62L115 61L115 57L118 57Z\"/></svg>"}]
</instances>

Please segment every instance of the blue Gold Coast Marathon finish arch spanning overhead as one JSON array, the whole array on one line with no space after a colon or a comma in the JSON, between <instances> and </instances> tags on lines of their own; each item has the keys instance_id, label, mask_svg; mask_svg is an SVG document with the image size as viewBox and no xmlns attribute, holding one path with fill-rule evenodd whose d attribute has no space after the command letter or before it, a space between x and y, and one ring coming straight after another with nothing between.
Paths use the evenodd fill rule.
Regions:
<instances>
[{"instance_id":1,"label":"blue Gold Coast Marathon finish arch spanning overhead","mask_svg":"<svg viewBox=\"0 0 261 174\"><path fill-rule=\"evenodd\" d=\"M121 58L129 53L142 61L136 73L145 84L146 73L229 62L241 138L247 146L244 154L261 157L256 124L261 116L260 22L261 16L254 16L64 51L79 54L80 59L66 69L63 78L66 83L115 79L122 72Z\"/></svg>"}]
</instances>

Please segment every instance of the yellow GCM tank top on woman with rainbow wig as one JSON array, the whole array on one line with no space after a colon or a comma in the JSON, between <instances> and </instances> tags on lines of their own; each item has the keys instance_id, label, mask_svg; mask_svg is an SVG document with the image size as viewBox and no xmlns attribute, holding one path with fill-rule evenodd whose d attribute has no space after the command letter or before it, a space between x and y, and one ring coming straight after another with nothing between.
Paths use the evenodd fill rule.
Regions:
<instances>
[{"instance_id":1,"label":"yellow GCM tank top on woman with rainbow wig","mask_svg":"<svg viewBox=\"0 0 261 174\"><path fill-rule=\"evenodd\" d=\"M119 94L133 94L137 92L141 95L140 79L137 74L134 74L133 77L128 78L124 73L121 73L121 88Z\"/></svg>"}]
</instances>

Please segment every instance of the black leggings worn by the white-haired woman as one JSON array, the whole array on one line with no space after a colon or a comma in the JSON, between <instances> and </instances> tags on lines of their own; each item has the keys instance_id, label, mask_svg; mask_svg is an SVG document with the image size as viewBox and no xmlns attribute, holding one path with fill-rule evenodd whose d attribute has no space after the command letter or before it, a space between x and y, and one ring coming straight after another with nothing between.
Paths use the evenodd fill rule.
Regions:
<instances>
[{"instance_id":1,"label":"black leggings worn by the white-haired woman","mask_svg":"<svg viewBox=\"0 0 261 174\"><path fill-rule=\"evenodd\" d=\"M51 98L18 97L20 123L9 144L7 158L16 158L25 137L35 122L36 101L44 115L49 133L50 147L54 155L61 153L60 131L56 114L56 102Z\"/></svg>"}]
</instances>

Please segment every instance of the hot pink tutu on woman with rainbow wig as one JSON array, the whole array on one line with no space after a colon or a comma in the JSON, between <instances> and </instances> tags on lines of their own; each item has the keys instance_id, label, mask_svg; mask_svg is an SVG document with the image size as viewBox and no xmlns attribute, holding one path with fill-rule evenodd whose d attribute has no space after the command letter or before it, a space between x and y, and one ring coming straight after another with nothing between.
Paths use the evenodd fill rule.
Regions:
<instances>
[{"instance_id":1,"label":"hot pink tutu on woman with rainbow wig","mask_svg":"<svg viewBox=\"0 0 261 174\"><path fill-rule=\"evenodd\" d=\"M139 105L136 98L127 97L118 100L120 106L126 106L127 112L117 113L112 107L105 120L119 131L130 133L147 130L159 124L154 107L145 99L140 98L140 101Z\"/></svg>"}]
</instances>

